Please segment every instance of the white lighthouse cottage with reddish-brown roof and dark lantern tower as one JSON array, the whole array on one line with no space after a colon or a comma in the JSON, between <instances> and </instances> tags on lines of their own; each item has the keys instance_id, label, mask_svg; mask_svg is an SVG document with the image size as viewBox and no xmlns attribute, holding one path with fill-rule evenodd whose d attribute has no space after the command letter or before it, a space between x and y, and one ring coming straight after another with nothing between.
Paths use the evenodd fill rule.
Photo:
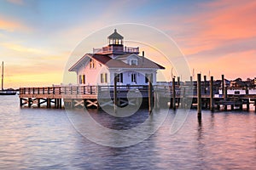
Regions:
<instances>
[{"instance_id":1,"label":"white lighthouse cottage with reddish-brown roof and dark lantern tower","mask_svg":"<svg viewBox=\"0 0 256 170\"><path fill-rule=\"evenodd\" d=\"M156 64L139 54L139 48L126 47L116 29L108 37L108 46L93 48L93 54L84 54L68 71L77 73L77 83L84 85L113 85L117 77L119 85L147 85L148 78L156 82L159 69Z\"/></svg>"}]
</instances>

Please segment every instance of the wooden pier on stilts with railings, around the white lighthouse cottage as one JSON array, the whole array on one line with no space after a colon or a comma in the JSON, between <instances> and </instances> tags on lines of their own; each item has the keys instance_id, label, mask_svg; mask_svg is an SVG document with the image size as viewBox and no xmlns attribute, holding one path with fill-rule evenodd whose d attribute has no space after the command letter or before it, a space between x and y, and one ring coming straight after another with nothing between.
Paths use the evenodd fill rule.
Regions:
<instances>
[{"instance_id":1,"label":"wooden pier on stilts with railings, around the white lighthouse cottage","mask_svg":"<svg viewBox=\"0 0 256 170\"><path fill-rule=\"evenodd\" d=\"M224 78L224 77L223 77ZM249 111L250 105L254 105L256 112L256 94L227 94L227 87L216 87L213 77L207 83L206 78L201 82L198 75L197 82L175 82L172 84L148 86L53 86L44 88L20 88L20 107L44 107L47 108L100 108L102 106L137 105L138 99L143 99L143 105L148 105L149 112L154 106L169 105L173 110L184 107L196 107L201 116L201 109L210 111L242 110L246 105ZM199 84L199 86L197 86ZM191 86L192 85L192 86ZM224 88L224 90L222 90ZM219 90L222 93L218 93ZM129 98L127 100L127 94ZM188 106L188 100L191 104ZM101 102L99 102L101 101Z\"/></svg>"}]
</instances>

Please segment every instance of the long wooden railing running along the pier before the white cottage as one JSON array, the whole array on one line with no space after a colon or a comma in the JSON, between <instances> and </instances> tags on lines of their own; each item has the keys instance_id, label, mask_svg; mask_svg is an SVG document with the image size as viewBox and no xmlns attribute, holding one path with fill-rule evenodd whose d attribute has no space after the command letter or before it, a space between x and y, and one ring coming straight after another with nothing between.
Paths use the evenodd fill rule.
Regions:
<instances>
[{"instance_id":1,"label":"long wooden railing running along the pier before the white cottage","mask_svg":"<svg viewBox=\"0 0 256 170\"><path fill-rule=\"evenodd\" d=\"M84 95L88 96L97 96L101 94L110 93L111 96L113 95L113 86L80 86L80 85L71 85L71 86L52 86L52 87L40 87L40 88L20 88L20 97L26 96L57 96L58 98L61 97L70 97L75 98L77 96L81 96L79 98L83 98ZM147 85L118 85L117 86L117 93L118 94L127 94L127 92L140 92L143 97L148 96L148 86ZM166 85L155 85L153 87L153 92L157 92L162 94L163 96L172 96L173 94L172 86ZM229 92L229 91L228 91ZM197 93L196 86L175 86L175 94L178 96L195 96ZM208 86L201 86L201 94L204 96L210 96L210 88ZM219 97L223 97L222 91L219 91L218 87L213 88L213 94L219 94ZM248 94L251 94L249 91ZM230 94L227 95L234 95ZM240 94L242 95L242 94ZM122 96L122 95L120 95ZM101 96L100 96L101 97Z\"/></svg>"}]
</instances>

